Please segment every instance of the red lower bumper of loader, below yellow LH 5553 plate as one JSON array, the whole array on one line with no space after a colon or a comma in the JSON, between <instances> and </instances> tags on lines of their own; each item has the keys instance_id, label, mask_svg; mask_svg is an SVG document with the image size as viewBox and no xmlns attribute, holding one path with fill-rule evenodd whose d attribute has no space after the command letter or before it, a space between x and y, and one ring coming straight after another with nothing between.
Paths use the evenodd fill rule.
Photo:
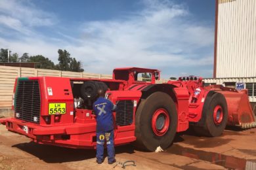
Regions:
<instances>
[{"instance_id":1,"label":"red lower bumper of loader, below yellow LH 5553 plate","mask_svg":"<svg viewBox=\"0 0 256 170\"><path fill-rule=\"evenodd\" d=\"M69 148L95 148L96 146L96 123L40 126L15 118L2 118L0 123L5 124L9 131L30 137L35 143ZM135 126L117 129L115 131L115 144L135 141L134 131Z\"/></svg>"}]
</instances>

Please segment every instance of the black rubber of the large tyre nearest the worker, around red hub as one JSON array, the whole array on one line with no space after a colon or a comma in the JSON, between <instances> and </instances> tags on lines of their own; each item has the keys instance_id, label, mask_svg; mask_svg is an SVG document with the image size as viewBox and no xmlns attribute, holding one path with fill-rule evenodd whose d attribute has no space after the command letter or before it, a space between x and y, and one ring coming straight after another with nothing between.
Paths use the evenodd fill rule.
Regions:
<instances>
[{"instance_id":1,"label":"black rubber of the large tyre nearest the worker, around red hub","mask_svg":"<svg viewBox=\"0 0 256 170\"><path fill-rule=\"evenodd\" d=\"M152 129L152 116L158 109L167 110L170 118L169 129L163 136L158 136ZM177 131L177 110L173 99L167 93L155 92L142 99L135 116L135 146L140 149L155 151L158 146L165 149L173 143Z\"/></svg>"}]
</instances>

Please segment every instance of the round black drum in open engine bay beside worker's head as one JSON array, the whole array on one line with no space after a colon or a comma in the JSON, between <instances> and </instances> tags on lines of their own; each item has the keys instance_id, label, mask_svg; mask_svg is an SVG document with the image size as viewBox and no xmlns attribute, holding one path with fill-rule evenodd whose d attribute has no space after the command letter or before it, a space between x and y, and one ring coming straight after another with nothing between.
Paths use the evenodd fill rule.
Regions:
<instances>
[{"instance_id":1,"label":"round black drum in open engine bay beside worker's head","mask_svg":"<svg viewBox=\"0 0 256 170\"><path fill-rule=\"evenodd\" d=\"M83 82L81 86L81 95L85 100L93 100L98 96L99 84L95 81ZM89 97L90 96L90 97Z\"/></svg>"}]
</instances>

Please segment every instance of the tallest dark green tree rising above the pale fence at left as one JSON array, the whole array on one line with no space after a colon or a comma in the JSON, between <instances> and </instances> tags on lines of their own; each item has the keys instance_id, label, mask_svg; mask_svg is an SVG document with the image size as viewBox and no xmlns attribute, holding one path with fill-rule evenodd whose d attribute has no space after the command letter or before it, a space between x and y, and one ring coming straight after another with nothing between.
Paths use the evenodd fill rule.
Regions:
<instances>
[{"instance_id":1,"label":"tallest dark green tree rising above the pale fence at left","mask_svg":"<svg viewBox=\"0 0 256 170\"><path fill-rule=\"evenodd\" d=\"M72 58L70 58L70 53L66 50L58 50L58 69L61 71L70 71L70 61Z\"/></svg>"}]
</instances>

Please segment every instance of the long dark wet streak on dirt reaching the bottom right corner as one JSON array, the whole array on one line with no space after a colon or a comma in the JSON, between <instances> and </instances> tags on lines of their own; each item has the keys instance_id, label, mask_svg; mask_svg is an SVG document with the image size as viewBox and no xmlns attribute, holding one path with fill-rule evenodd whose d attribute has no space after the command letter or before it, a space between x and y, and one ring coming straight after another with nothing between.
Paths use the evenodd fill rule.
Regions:
<instances>
[{"instance_id":1,"label":"long dark wet streak on dirt reaching the bottom right corner","mask_svg":"<svg viewBox=\"0 0 256 170\"><path fill-rule=\"evenodd\" d=\"M203 150L194 150L192 148L184 148L178 144L173 144L167 149L169 154L177 154L194 158L196 160L209 161L216 165L221 165L227 169L247 169L247 166L256 167L256 160L245 160L243 158L236 158L234 156L226 156L215 152L206 152Z\"/></svg>"}]
</instances>

